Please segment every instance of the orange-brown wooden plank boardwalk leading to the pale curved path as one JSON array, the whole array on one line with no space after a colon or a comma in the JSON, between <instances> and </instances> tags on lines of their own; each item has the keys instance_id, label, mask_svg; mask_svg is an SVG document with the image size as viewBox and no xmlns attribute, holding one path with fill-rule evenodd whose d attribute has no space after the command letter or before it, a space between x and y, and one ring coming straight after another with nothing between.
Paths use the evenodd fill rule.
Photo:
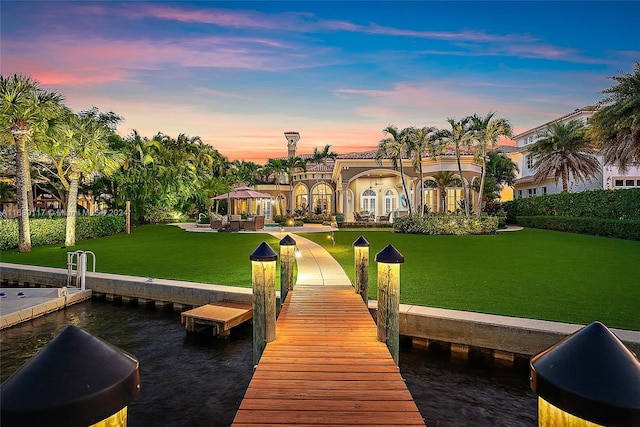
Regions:
<instances>
[{"instance_id":1,"label":"orange-brown wooden plank boardwalk leading to the pale curved path","mask_svg":"<svg viewBox=\"0 0 640 427\"><path fill-rule=\"evenodd\" d=\"M256 425L425 424L354 289L298 285L233 421Z\"/></svg>"}]
</instances>

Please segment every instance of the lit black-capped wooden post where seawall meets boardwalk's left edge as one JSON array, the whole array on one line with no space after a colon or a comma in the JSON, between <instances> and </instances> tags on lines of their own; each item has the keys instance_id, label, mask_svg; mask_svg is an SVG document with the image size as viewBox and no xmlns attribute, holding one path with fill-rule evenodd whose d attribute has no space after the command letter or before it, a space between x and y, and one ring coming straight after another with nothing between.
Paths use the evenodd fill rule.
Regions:
<instances>
[{"instance_id":1,"label":"lit black-capped wooden post where seawall meets boardwalk's left edge","mask_svg":"<svg viewBox=\"0 0 640 427\"><path fill-rule=\"evenodd\" d=\"M249 256L253 286L253 364L258 365L268 342L276 339L276 260L262 242Z\"/></svg>"}]
</instances>

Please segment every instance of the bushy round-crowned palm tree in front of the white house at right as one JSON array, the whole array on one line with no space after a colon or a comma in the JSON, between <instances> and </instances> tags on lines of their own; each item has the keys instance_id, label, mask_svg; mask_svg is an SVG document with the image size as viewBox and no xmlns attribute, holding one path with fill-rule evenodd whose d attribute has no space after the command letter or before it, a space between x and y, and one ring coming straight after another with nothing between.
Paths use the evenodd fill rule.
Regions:
<instances>
[{"instance_id":1,"label":"bushy round-crowned palm tree in front of the white house at right","mask_svg":"<svg viewBox=\"0 0 640 427\"><path fill-rule=\"evenodd\" d=\"M570 176L582 182L591 181L601 171L596 150L580 120L552 123L529 148L529 153L536 159L533 165L536 185L553 176L556 184L562 181L565 193L569 191Z\"/></svg>"}]
</instances>

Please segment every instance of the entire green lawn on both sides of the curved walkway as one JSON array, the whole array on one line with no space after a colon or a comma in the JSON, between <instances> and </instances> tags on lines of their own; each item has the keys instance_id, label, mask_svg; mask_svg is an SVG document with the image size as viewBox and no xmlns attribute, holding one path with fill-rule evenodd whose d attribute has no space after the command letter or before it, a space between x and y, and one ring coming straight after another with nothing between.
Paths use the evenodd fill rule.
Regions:
<instances>
[{"instance_id":1,"label":"entire green lawn on both sides of the curved walkway","mask_svg":"<svg viewBox=\"0 0 640 427\"><path fill-rule=\"evenodd\" d=\"M325 246L353 278L352 243L371 244L369 294L376 298L375 254L393 244L405 256L403 303L640 330L640 242L526 229L488 236L420 236L339 231L304 237ZM251 286L249 254L267 234L189 233L171 226L79 242L102 272ZM6 251L4 262L66 267L57 246Z\"/></svg>"}]
</instances>

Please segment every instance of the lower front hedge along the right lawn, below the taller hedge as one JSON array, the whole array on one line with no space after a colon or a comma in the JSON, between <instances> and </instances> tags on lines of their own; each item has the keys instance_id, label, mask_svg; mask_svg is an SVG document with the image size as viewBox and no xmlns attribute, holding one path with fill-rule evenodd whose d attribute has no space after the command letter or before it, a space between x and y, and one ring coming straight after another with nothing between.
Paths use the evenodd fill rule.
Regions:
<instances>
[{"instance_id":1,"label":"lower front hedge along the right lawn, below the taller hedge","mask_svg":"<svg viewBox=\"0 0 640 427\"><path fill-rule=\"evenodd\" d=\"M519 216L518 224L523 227L640 240L640 221L566 216Z\"/></svg>"}]
</instances>

